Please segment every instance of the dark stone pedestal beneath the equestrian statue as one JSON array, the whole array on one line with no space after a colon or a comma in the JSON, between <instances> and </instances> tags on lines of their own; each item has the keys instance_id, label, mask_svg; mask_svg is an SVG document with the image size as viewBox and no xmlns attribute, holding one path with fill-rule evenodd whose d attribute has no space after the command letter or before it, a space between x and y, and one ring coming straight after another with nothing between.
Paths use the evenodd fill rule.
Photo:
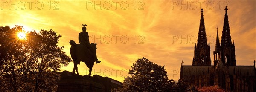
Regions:
<instances>
[{"instance_id":1,"label":"dark stone pedestal beneath the equestrian statue","mask_svg":"<svg viewBox=\"0 0 256 92\"><path fill-rule=\"evenodd\" d=\"M113 88L122 87L122 83L99 75L73 75L72 72L61 72L58 81L58 92L110 92Z\"/></svg>"}]
</instances>

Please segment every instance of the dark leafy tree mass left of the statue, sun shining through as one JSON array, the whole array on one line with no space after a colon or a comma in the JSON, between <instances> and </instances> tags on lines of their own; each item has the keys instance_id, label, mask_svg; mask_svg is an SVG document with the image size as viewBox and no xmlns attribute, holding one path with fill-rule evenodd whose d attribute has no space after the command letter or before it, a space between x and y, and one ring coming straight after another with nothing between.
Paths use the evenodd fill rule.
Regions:
<instances>
[{"instance_id":1,"label":"dark leafy tree mass left of the statue, sun shining through","mask_svg":"<svg viewBox=\"0 0 256 92\"><path fill-rule=\"evenodd\" d=\"M71 58L57 45L61 35L49 30L31 31L26 40L15 38L22 26L0 27L0 89L11 92L56 91L62 66ZM53 72L52 72L53 71Z\"/></svg>"}]
</instances>

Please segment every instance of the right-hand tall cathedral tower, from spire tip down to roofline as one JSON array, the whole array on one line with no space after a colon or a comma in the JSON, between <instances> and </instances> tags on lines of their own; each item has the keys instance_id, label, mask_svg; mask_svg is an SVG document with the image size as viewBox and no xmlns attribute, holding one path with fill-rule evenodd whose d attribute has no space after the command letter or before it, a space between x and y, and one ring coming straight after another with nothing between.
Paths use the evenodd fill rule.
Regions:
<instances>
[{"instance_id":1,"label":"right-hand tall cathedral tower, from spire tip down to roofline","mask_svg":"<svg viewBox=\"0 0 256 92\"><path fill-rule=\"evenodd\" d=\"M227 17L227 6L221 37L221 60L227 66L236 66L235 43L231 41L230 27Z\"/></svg>"}]
</instances>

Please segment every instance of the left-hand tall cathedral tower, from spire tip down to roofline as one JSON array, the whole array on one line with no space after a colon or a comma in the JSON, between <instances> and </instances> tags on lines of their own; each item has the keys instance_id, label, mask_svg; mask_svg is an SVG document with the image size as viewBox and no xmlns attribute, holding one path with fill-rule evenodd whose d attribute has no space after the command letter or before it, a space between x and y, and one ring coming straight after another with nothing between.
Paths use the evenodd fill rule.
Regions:
<instances>
[{"instance_id":1,"label":"left-hand tall cathedral tower, from spire tip down to roofline","mask_svg":"<svg viewBox=\"0 0 256 92\"><path fill-rule=\"evenodd\" d=\"M194 58L192 65L211 66L210 43L207 46L207 37L204 26L203 9L201 9L201 19L198 32L197 44L195 44Z\"/></svg>"}]
</instances>

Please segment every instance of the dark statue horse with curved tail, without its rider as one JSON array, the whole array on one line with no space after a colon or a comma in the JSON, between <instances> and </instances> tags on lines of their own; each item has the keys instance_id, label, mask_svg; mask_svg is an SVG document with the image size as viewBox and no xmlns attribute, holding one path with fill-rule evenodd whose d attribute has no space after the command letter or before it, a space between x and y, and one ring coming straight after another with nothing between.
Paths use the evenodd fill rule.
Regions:
<instances>
[{"instance_id":1,"label":"dark statue horse with curved tail, without its rider","mask_svg":"<svg viewBox=\"0 0 256 92\"><path fill-rule=\"evenodd\" d=\"M89 68L89 76L90 76L94 62L95 62L93 59L93 52L96 52L97 43L90 44L90 46L93 48L93 52L91 52L90 49L88 49L86 46L82 44L76 44L76 42L73 40L70 40L70 45L71 45L70 54L71 54L71 58L74 61L73 74L75 74L75 70L76 70L76 73L79 75L77 70L78 69L77 64L80 64L80 62L82 61Z\"/></svg>"}]
</instances>

